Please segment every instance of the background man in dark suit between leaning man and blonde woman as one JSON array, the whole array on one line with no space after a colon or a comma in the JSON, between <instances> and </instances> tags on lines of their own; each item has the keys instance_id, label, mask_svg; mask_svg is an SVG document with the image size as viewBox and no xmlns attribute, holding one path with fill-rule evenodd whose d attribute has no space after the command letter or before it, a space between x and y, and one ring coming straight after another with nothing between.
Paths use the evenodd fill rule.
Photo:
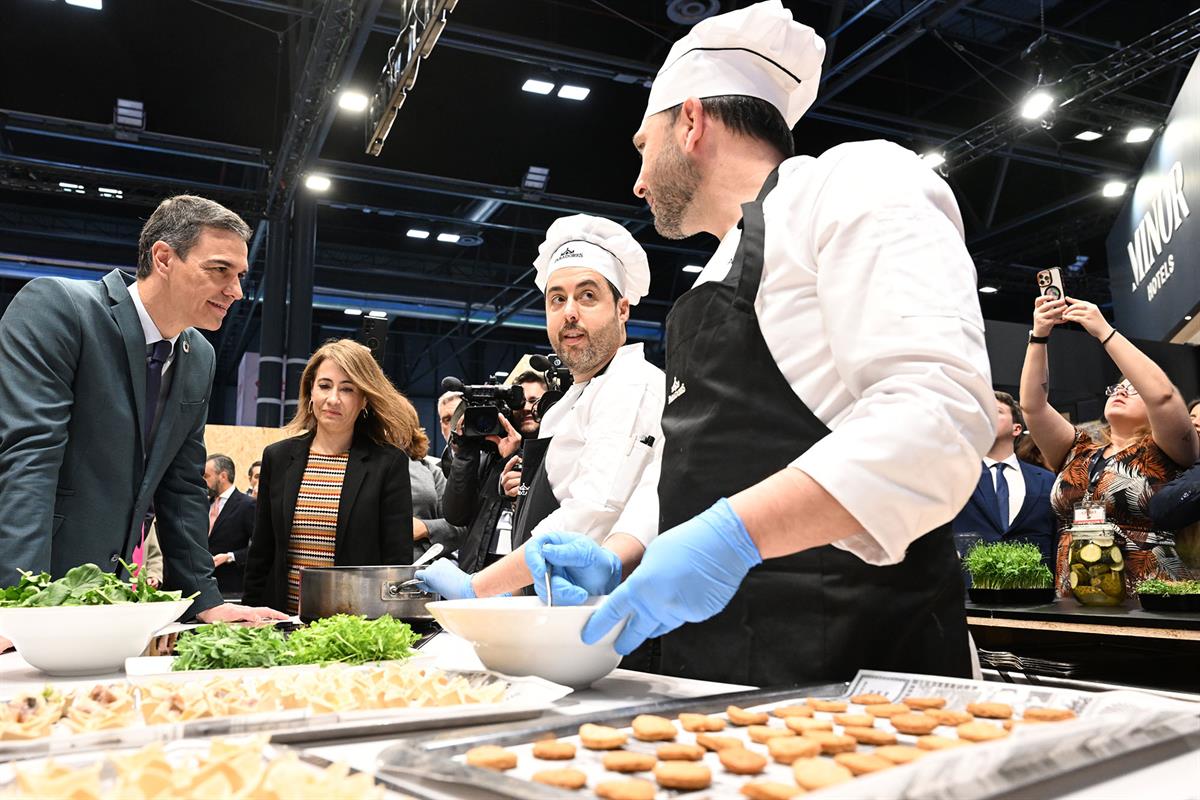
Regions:
<instances>
[{"instance_id":1,"label":"background man in dark suit between leaning man and blonde woman","mask_svg":"<svg viewBox=\"0 0 1200 800\"><path fill-rule=\"evenodd\" d=\"M204 462L204 482L209 485L209 553L224 597L241 597L246 552L254 533L254 499L233 485L236 474L229 456L214 453Z\"/></svg>"}]
</instances>

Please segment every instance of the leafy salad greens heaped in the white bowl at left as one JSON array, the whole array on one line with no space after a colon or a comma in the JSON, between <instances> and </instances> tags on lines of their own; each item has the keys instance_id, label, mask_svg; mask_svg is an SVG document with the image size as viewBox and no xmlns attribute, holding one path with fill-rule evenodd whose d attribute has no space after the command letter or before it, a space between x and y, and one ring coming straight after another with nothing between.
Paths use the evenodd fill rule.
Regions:
<instances>
[{"instance_id":1,"label":"leafy salad greens heaped in the white bowl at left","mask_svg":"<svg viewBox=\"0 0 1200 800\"><path fill-rule=\"evenodd\" d=\"M121 566L128 572L133 571L125 561L121 561ZM180 600L182 595L181 591L160 591L140 576L133 578L132 583L126 583L95 564L82 564L67 570L58 581L50 581L48 572L19 572L20 581L17 585L0 589L0 608L154 603Z\"/></svg>"}]
</instances>

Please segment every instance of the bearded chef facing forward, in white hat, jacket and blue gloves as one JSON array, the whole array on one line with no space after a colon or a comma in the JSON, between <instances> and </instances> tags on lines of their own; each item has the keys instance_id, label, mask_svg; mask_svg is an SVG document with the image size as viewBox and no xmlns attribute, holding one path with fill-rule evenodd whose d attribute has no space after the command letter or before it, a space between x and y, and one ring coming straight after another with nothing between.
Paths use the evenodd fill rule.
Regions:
<instances>
[{"instance_id":1,"label":"bearded chef facing forward, in white hat, jacket and blue gloves","mask_svg":"<svg viewBox=\"0 0 1200 800\"><path fill-rule=\"evenodd\" d=\"M418 571L444 597L490 596L532 582L524 541L557 531L601 547L584 566L613 585L658 535L666 380L642 344L625 343L630 306L650 285L646 251L625 228L600 217L557 219L539 247L535 283L546 297L546 332L574 384L542 417L522 453L523 483L511 554L468 576L443 559ZM560 557L570 560L572 548ZM541 587L539 587L541 589ZM564 583L560 602L587 590Z\"/></svg>"}]
</instances>

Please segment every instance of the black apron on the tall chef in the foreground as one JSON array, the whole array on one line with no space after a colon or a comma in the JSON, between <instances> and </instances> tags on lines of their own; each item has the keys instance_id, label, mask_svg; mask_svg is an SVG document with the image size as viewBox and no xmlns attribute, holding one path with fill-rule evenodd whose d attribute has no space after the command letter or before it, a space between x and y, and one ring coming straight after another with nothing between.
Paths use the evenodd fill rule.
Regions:
<instances>
[{"instance_id":1,"label":"black apron on the tall chef in the foreground","mask_svg":"<svg viewBox=\"0 0 1200 800\"><path fill-rule=\"evenodd\" d=\"M667 317L660 531L785 469L829 433L796 396L755 313L762 201L742 206L728 276ZM914 409L913 413L920 413ZM876 567L833 546L768 559L716 616L659 640L659 672L755 686L847 680L858 669L970 676L962 581L949 524Z\"/></svg>"}]
</instances>

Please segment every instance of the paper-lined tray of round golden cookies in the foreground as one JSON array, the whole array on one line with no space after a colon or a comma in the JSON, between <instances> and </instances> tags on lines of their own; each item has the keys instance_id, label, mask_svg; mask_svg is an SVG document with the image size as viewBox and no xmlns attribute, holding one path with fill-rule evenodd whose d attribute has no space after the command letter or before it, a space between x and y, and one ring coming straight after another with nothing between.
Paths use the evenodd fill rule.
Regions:
<instances>
[{"instance_id":1,"label":"paper-lined tray of round golden cookies in the foreground","mask_svg":"<svg viewBox=\"0 0 1200 800\"><path fill-rule=\"evenodd\" d=\"M863 672L848 685L671 700L442 736L422 750L385 751L378 766L440 769L443 780L530 799L989 796L982 788L1010 787L1013 775L1045 778L1086 766L1099 752L1116 758L1121 741L1175 740L1195 724L1187 705L1136 692ZM1062 742L1066 736L1070 750L1072 735L1086 744L1068 757ZM1098 736L1108 744L1098 746ZM991 781L980 777L983 765Z\"/></svg>"}]
</instances>

